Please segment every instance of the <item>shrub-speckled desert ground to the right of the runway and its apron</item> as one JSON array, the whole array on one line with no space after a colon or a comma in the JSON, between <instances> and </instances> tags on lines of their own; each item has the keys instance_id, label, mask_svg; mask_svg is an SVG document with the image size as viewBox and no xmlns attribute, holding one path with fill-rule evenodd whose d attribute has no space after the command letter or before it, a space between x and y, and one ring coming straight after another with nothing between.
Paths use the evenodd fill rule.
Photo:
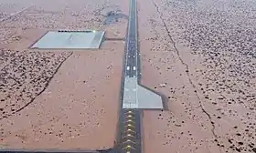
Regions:
<instances>
[{"instance_id":1,"label":"shrub-speckled desert ground to the right of the runway and its apron","mask_svg":"<svg viewBox=\"0 0 256 153\"><path fill-rule=\"evenodd\" d=\"M144 113L145 152L256 152L255 6L139 0L143 82L169 108Z\"/></svg>"}]
</instances>

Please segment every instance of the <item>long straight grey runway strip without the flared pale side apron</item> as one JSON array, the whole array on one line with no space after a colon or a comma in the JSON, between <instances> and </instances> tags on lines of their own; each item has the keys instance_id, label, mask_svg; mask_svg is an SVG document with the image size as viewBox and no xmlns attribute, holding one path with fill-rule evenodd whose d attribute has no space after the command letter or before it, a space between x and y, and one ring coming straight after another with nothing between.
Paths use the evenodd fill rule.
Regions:
<instances>
[{"instance_id":1,"label":"long straight grey runway strip without the flared pale side apron","mask_svg":"<svg viewBox=\"0 0 256 153\"><path fill-rule=\"evenodd\" d=\"M141 153L141 110L131 108L136 101L136 91L127 91L127 80L132 79L130 88L137 87L139 74L138 67L138 35L137 35L137 11L136 1L130 0L129 24L127 27L125 56L123 67L123 89L121 91L122 105L119 117L119 137L117 138L117 152L119 153ZM129 90L128 89L128 90ZM128 92L130 101L126 103L125 93ZM126 103L126 104L125 104ZM126 107L125 107L126 105Z\"/></svg>"}]
</instances>

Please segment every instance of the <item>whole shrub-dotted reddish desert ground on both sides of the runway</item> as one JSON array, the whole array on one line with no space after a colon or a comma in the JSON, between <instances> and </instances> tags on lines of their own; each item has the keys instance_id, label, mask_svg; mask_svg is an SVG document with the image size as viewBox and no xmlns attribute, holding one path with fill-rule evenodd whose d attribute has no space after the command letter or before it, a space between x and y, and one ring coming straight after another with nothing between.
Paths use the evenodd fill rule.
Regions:
<instances>
[{"instance_id":1,"label":"whole shrub-dotted reddish desert ground on both sides of the runway","mask_svg":"<svg viewBox=\"0 0 256 153\"><path fill-rule=\"evenodd\" d=\"M144 110L144 153L255 153L255 2L137 7L141 81L167 106ZM112 148L123 41L84 52L29 46L58 29L123 38L128 8L117 0L0 1L0 148Z\"/></svg>"}]
</instances>

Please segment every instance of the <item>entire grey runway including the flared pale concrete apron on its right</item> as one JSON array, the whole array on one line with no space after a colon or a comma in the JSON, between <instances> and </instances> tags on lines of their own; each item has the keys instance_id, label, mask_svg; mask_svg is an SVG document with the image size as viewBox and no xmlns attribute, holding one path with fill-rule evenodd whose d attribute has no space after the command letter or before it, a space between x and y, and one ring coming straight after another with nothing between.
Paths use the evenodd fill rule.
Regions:
<instances>
[{"instance_id":1,"label":"entire grey runway including the flared pale concrete apron on its right","mask_svg":"<svg viewBox=\"0 0 256 153\"><path fill-rule=\"evenodd\" d=\"M142 111L143 109L162 109L163 102L161 96L139 84L141 72L136 0L130 0L129 10L117 152L141 153L144 152L142 147Z\"/></svg>"}]
</instances>

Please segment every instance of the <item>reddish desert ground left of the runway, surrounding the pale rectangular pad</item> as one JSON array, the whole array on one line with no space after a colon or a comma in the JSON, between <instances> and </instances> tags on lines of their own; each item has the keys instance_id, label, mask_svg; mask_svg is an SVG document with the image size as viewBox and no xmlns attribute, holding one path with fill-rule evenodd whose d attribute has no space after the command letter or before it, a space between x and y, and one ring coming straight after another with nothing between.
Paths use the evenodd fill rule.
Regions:
<instances>
[{"instance_id":1,"label":"reddish desert ground left of the runway, surrounding the pale rectangular pad","mask_svg":"<svg viewBox=\"0 0 256 153\"><path fill-rule=\"evenodd\" d=\"M17 5L9 15L30 2L9 2ZM104 15L117 9L128 12L118 1L33 1L0 22L0 148L112 148L123 41L85 52L28 48L56 29L102 29L108 38L123 38L125 19L102 25Z\"/></svg>"}]
</instances>

